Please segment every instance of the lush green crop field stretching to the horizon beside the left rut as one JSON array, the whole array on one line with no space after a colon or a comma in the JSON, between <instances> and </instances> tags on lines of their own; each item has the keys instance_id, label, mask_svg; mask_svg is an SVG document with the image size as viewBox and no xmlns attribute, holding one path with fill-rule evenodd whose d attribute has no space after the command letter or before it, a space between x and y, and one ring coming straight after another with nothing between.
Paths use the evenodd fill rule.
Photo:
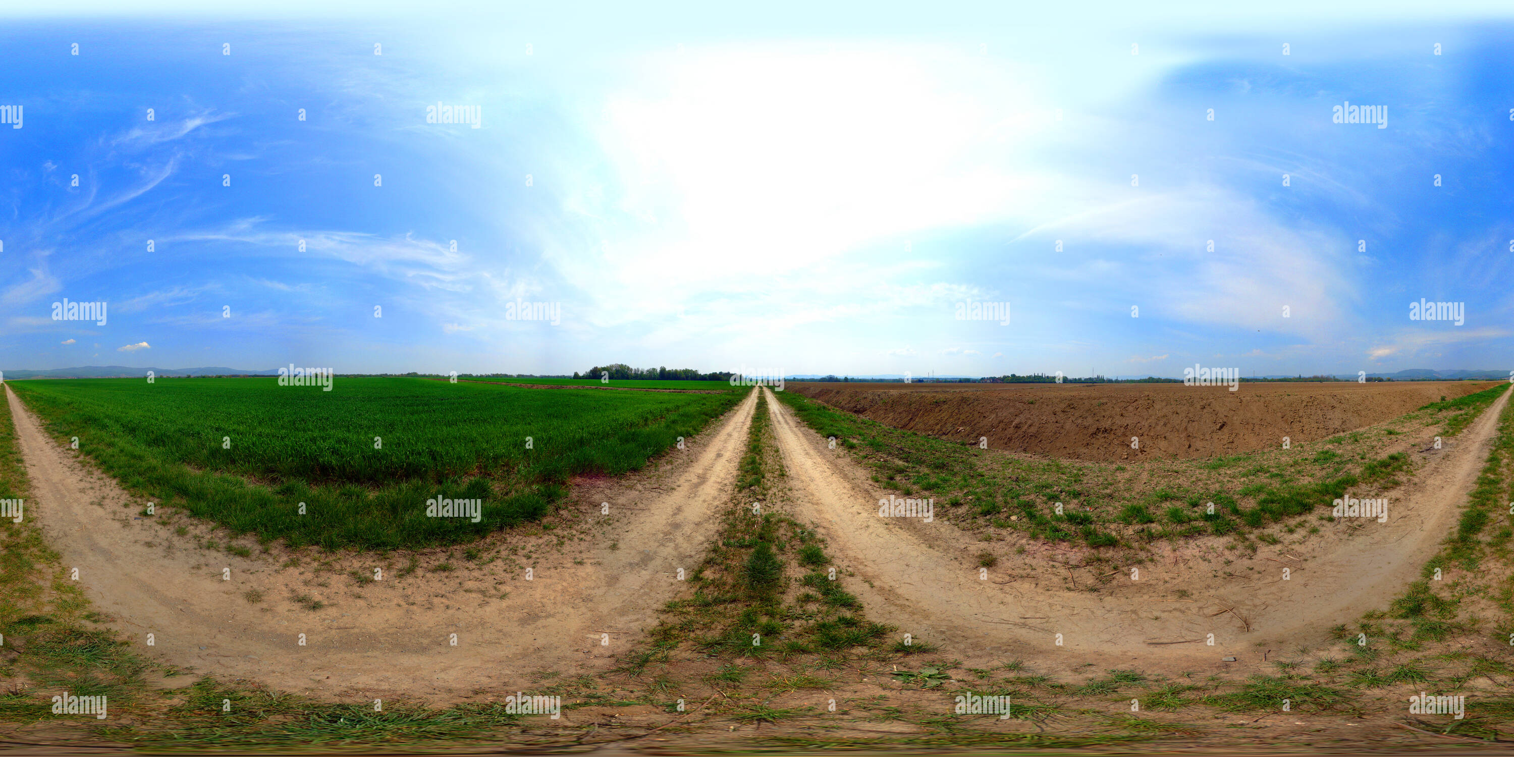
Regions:
<instances>
[{"instance_id":1,"label":"lush green crop field stretching to the horizon beside the left rut","mask_svg":"<svg viewBox=\"0 0 1514 757\"><path fill-rule=\"evenodd\" d=\"M569 475L640 468L743 397L344 377L330 392L277 378L9 386L127 489L327 548L456 544L540 518ZM427 516L438 495L483 500L478 522Z\"/></svg>"}]
</instances>

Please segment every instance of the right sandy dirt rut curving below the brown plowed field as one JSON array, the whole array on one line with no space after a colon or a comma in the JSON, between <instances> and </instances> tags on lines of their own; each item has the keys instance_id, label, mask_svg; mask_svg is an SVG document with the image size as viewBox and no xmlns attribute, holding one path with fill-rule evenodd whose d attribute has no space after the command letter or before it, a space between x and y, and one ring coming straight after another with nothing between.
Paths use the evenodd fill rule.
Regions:
<instances>
[{"instance_id":1,"label":"right sandy dirt rut curving below the brown plowed field","mask_svg":"<svg viewBox=\"0 0 1514 757\"><path fill-rule=\"evenodd\" d=\"M871 618L964 660L1076 651L1079 665L1114 665L1222 656L1260 662L1258 642L1275 650L1320 643L1331 625L1382 606L1417 578L1450 531L1506 403L1508 394L1394 492L1385 524L1335 524L1341 536L1334 539L1264 548L1254 559L1234 554L1223 568L1201 560L1193 547L1161 547L1155 560L1137 566L1137 578L1122 566L1098 592L1066 590L1063 565L1075 560L1057 553L1072 553L1030 539L1025 554L981 578L972 556L983 545L970 534L939 519L881 518L878 500L895 492L874 486L843 450L830 450L771 394L768 406L793 512L818 524L837 563L861 578L864 586L849 586ZM1228 575L1217 577L1220 571Z\"/></svg>"}]
</instances>

